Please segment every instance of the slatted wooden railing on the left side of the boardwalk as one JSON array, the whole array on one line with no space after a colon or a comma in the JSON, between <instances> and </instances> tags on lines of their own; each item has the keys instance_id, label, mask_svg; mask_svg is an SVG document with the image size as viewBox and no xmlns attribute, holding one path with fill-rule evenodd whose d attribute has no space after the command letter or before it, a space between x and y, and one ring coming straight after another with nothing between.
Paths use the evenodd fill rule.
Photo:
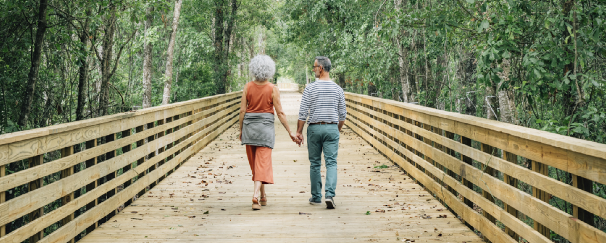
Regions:
<instances>
[{"instance_id":1,"label":"slatted wooden railing on the left side of the boardwalk","mask_svg":"<svg viewBox=\"0 0 606 243\"><path fill-rule=\"evenodd\" d=\"M0 242L78 240L235 124L241 95L1 135Z\"/></svg>"}]
</instances>

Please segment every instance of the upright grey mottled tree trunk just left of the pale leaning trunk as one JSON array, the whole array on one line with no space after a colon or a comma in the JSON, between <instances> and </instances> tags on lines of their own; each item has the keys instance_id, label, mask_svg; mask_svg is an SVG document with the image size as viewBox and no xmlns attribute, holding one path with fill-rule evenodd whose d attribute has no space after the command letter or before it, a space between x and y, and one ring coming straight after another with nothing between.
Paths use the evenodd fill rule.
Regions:
<instances>
[{"instance_id":1,"label":"upright grey mottled tree trunk just left of the pale leaning trunk","mask_svg":"<svg viewBox=\"0 0 606 243\"><path fill-rule=\"evenodd\" d=\"M151 54L153 44L148 39L152 24L151 12L153 12L153 7L148 7L145 11L147 20L145 20L145 39L143 42L143 108L151 107Z\"/></svg>"}]
</instances>

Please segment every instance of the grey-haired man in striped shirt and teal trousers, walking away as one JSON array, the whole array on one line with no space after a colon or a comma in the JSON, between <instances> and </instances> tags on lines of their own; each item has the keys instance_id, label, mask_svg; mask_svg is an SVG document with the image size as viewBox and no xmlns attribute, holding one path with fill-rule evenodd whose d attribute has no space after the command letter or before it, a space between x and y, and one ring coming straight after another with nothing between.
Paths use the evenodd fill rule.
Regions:
<instances>
[{"instance_id":1,"label":"grey-haired man in striped shirt and teal trousers, walking away","mask_svg":"<svg viewBox=\"0 0 606 243\"><path fill-rule=\"evenodd\" d=\"M322 204L322 151L326 161L325 202L326 208L335 208L335 188L337 187L337 152L339 132L345 124L345 93L339 85L330 80L330 59L316 56L313 72L317 81L307 85L299 108L297 137L303 143L303 127L307 128L307 151L309 153L311 198L309 203ZM299 144L300 145L300 144Z\"/></svg>"}]
</instances>

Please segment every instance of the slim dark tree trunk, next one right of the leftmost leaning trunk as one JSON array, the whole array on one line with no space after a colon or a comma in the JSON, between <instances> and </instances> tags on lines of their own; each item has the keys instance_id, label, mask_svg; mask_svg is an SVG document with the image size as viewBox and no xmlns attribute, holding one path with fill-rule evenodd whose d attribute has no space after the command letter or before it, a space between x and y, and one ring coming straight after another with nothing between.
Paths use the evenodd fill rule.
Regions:
<instances>
[{"instance_id":1,"label":"slim dark tree trunk, next one right of the leftmost leaning trunk","mask_svg":"<svg viewBox=\"0 0 606 243\"><path fill-rule=\"evenodd\" d=\"M80 42L82 47L80 51L86 53L88 46L88 24L90 22L91 10L86 12L86 20L82 33L80 34ZM86 104L86 86L88 79L88 55L79 58L80 67L78 68L78 105L76 105L76 121L84 119L84 105Z\"/></svg>"}]
</instances>

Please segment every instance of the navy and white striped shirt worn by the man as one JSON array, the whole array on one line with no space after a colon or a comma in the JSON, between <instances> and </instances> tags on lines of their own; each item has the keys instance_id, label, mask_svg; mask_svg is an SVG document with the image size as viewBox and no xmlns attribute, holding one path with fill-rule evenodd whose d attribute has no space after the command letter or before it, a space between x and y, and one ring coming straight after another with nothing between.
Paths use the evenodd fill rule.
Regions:
<instances>
[{"instance_id":1,"label":"navy and white striped shirt worn by the man","mask_svg":"<svg viewBox=\"0 0 606 243\"><path fill-rule=\"evenodd\" d=\"M339 85L330 80L317 80L305 87L299 120L307 124L315 122L345 121L345 93ZM309 117L309 119L307 119Z\"/></svg>"}]
</instances>

